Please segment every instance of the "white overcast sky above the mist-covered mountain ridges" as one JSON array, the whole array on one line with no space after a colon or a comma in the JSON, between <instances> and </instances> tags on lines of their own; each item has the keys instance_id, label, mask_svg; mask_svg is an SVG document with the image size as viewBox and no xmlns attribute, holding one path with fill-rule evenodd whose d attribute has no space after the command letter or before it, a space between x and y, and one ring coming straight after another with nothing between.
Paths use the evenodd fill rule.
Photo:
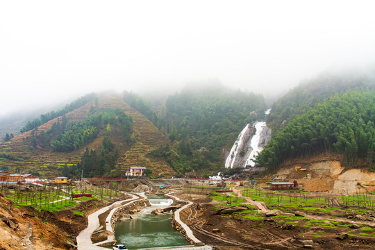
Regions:
<instances>
[{"instance_id":1,"label":"white overcast sky above the mist-covered mountain ridges","mask_svg":"<svg viewBox=\"0 0 375 250\"><path fill-rule=\"evenodd\" d=\"M375 1L1 1L0 116L219 79L281 92L375 62Z\"/></svg>"}]
</instances>

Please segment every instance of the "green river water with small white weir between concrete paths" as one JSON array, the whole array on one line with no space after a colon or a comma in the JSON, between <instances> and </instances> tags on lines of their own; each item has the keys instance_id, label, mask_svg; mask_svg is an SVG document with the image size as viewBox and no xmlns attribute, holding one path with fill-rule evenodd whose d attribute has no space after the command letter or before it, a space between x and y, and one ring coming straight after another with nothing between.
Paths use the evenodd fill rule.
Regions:
<instances>
[{"instance_id":1,"label":"green river water with small white weir between concrete paths","mask_svg":"<svg viewBox=\"0 0 375 250\"><path fill-rule=\"evenodd\" d=\"M115 226L117 244L124 244L128 249L144 249L151 247L187 246L183 236L171 226L172 213L153 215L152 210L166 207L172 200L164 197L148 197L151 207L135 213L130 221L119 221ZM133 217L133 215L132 215Z\"/></svg>"}]
</instances>

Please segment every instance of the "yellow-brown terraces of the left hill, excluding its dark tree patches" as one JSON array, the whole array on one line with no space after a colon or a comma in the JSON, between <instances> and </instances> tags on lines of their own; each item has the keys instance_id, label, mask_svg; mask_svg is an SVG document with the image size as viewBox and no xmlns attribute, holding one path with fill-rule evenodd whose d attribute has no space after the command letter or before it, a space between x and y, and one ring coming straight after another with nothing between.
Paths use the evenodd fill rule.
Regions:
<instances>
[{"instance_id":1,"label":"yellow-brown terraces of the left hill, excluding its dark tree patches","mask_svg":"<svg viewBox=\"0 0 375 250\"><path fill-rule=\"evenodd\" d=\"M169 140L158 131L158 128L153 126L144 115L134 110L126 104L121 97L111 96L99 99L99 108L121 108L126 115L133 117L133 133L138 137L138 140L133 144L131 149L119 140L116 131L110 135L119 151L119 160L117 165L119 170L125 172L129 167L147 167L151 169L153 174L170 175L174 173L174 169L170 167L165 160L159 158L149 158L147 154L160 146L169 144ZM69 122L79 122L85 119L88 115L92 103L88 103L81 108L77 108L72 112L67 113L66 117ZM81 160L85 147L88 149L99 150L101 141L103 140L105 131L100 131L99 136L89 144L85 145L79 150L71 153L53 152L51 149L36 149L29 146L31 144L32 134L39 135L41 131L47 131L51 128L54 122L62 120L62 117L57 117L42 124L37 130L27 131L21 135L17 135L10 142L0 144L0 153L10 153L19 157L17 160L7 160L0 158L0 167L8 167L10 172L16 172L19 169L21 173L36 171L40 176L51 178L60 174L60 168L64 165L76 165Z\"/></svg>"}]
</instances>

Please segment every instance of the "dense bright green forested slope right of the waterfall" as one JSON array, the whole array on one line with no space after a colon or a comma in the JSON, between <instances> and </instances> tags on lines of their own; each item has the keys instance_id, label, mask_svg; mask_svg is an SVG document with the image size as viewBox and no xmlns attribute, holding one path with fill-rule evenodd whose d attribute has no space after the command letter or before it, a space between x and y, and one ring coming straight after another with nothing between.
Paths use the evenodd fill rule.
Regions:
<instances>
[{"instance_id":1,"label":"dense bright green forested slope right of the waterfall","mask_svg":"<svg viewBox=\"0 0 375 250\"><path fill-rule=\"evenodd\" d=\"M374 90L336 94L276 131L258 162L275 169L290 158L339 153L345 165L375 171L374 122Z\"/></svg>"}]
</instances>

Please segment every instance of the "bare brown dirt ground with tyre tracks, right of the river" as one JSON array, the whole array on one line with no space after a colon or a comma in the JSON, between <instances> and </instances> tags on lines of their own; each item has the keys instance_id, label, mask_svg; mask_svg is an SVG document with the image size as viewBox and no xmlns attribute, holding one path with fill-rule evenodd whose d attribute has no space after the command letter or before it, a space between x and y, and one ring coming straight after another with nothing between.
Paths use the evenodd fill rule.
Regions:
<instances>
[{"instance_id":1,"label":"bare brown dirt ground with tyre tracks, right of the river","mask_svg":"<svg viewBox=\"0 0 375 250\"><path fill-rule=\"evenodd\" d=\"M181 199L194 202L181 213L181 219L192 228L199 240L217 249L374 249L372 237L348 237L338 240L339 233L350 228L305 228L298 222L279 224L280 218L265 217L255 221L244 219L241 214L215 215L215 203L206 196L180 194ZM311 232L322 232L319 238ZM215 232L215 233L214 233ZM313 244L310 244L313 243ZM307 246L306 246L307 245Z\"/></svg>"}]
</instances>

